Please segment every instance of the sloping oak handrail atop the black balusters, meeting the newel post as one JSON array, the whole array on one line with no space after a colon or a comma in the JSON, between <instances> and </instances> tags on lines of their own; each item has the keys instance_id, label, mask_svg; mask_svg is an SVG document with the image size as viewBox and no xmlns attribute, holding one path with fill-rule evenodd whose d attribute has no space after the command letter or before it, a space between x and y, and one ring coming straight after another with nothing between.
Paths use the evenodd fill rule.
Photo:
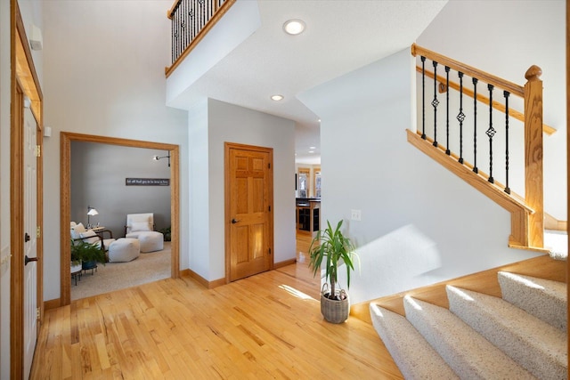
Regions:
<instances>
[{"instance_id":1,"label":"sloping oak handrail atop the black balusters, meeting the newel post","mask_svg":"<svg viewBox=\"0 0 570 380\"><path fill-rule=\"evenodd\" d=\"M476 69L460 61L452 60L449 57L446 57L436 52L432 52L431 50L428 50L417 44L411 44L411 55L413 55L414 57L417 55L427 57L430 60L436 61L439 64L449 66L451 69L467 74L469 77L476 77L477 79L482 80L483 82L489 85L494 85L495 87L507 90L509 91L509 93L516 94L521 98L525 96L525 92L522 85L517 85L515 83L509 82L508 80L504 80L501 77L495 77L492 74L486 73L483 70Z\"/></svg>"}]
</instances>

